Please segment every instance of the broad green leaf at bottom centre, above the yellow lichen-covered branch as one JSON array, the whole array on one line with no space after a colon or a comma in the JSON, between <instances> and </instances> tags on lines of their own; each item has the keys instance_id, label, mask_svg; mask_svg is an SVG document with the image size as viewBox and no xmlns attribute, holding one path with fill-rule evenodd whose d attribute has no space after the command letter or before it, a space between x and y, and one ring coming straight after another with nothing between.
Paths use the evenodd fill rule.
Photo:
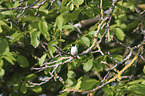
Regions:
<instances>
[{"instance_id":1,"label":"broad green leaf at bottom centre, above the yellow lichen-covered branch","mask_svg":"<svg viewBox=\"0 0 145 96\"><path fill-rule=\"evenodd\" d=\"M97 81L96 79L83 77L81 89L82 90L92 89L95 85L97 86L98 83L99 81Z\"/></svg>"}]
</instances>

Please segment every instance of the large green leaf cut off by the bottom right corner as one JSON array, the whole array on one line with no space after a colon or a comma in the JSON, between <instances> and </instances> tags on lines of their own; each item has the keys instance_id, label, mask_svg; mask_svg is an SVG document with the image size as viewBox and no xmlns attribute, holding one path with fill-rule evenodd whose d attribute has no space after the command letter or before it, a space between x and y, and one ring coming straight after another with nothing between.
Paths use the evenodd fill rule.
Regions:
<instances>
[{"instance_id":1,"label":"large green leaf cut off by the bottom right corner","mask_svg":"<svg viewBox=\"0 0 145 96\"><path fill-rule=\"evenodd\" d=\"M144 89L145 85L144 84L134 84L130 86L128 89L130 89L133 93L136 93L138 95L145 95Z\"/></svg>"}]
</instances>

